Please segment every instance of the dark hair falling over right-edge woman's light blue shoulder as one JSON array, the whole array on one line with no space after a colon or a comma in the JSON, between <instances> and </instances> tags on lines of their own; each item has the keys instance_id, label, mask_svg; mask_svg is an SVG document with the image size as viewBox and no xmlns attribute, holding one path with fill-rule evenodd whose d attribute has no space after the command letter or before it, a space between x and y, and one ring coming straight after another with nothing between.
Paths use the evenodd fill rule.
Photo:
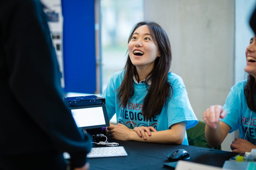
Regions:
<instances>
[{"instance_id":1,"label":"dark hair falling over right-edge woman's light blue shoulder","mask_svg":"<svg viewBox=\"0 0 256 170\"><path fill-rule=\"evenodd\" d=\"M247 83L244 89L244 94L246 97L247 106L251 111L256 112L256 104L255 104L256 83L255 83L255 78L251 74L248 74Z\"/></svg>"}]
</instances>

